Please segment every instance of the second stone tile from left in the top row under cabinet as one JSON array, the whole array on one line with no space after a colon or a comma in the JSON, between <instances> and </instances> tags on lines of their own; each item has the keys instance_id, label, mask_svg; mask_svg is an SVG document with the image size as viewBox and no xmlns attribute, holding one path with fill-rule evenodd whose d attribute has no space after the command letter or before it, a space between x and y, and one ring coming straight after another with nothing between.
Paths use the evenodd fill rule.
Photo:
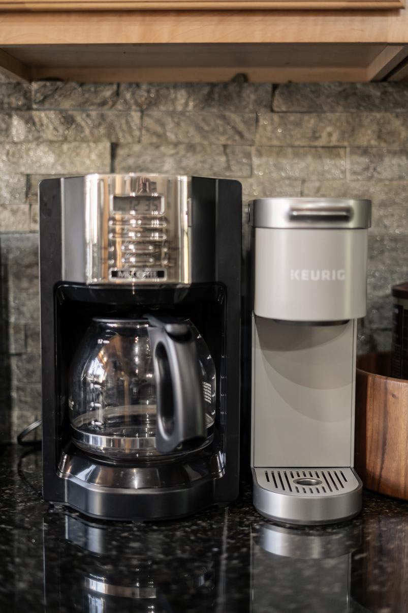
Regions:
<instances>
[{"instance_id":1,"label":"second stone tile from left in the top row under cabinet","mask_svg":"<svg viewBox=\"0 0 408 613\"><path fill-rule=\"evenodd\" d=\"M116 83L37 81L32 83L34 109L113 109L118 104Z\"/></svg>"}]
</instances>

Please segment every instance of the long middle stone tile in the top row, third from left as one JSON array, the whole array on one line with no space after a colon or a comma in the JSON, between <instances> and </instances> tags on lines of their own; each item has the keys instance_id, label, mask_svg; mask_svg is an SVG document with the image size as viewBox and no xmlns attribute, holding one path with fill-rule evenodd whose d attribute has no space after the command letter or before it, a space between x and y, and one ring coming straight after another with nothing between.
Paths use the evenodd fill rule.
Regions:
<instances>
[{"instance_id":1,"label":"long middle stone tile in the top row, third from left","mask_svg":"<svg viewBox=\"0 0 408 613\"><path fill-rule=\"evenodd\" d=\"M266 83L121 83L118 109L251 113L271 109Z\"/></svg>"}]
</instances>

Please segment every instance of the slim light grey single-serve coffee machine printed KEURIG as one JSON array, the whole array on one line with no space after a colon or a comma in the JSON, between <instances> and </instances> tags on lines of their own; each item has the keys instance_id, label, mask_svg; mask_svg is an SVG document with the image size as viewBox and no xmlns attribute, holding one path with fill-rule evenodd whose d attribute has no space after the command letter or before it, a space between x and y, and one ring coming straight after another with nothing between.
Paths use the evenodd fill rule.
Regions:
<instances>
[{"instance_id":1,"label":"slim light grey single-serve coffee machine printed KEURIG","mask_svg":"<svg viewBox=\"0 0 408 613\"><path fill-rule=\"evenodd\" d=\"M249 211L254 504L291 524L349 519L361 509L355 354L371 203L266 198Z\"/></svg>"}]
</instances>

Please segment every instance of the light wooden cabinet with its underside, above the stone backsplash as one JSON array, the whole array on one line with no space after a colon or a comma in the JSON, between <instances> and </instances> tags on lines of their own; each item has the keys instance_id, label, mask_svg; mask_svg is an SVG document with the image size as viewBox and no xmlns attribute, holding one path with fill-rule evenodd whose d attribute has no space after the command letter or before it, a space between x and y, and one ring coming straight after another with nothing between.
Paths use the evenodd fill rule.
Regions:
<instances>
[{"instance_id":1,"label":"light wooden cabinet with its underside, above the stone backsplash","mask_svg":"<svg viewBox=\"0 0 408 613\"><path fill-rule=\"evenodd\" d=\"M145 0L145 6L154 1ZM166 7L172 2L162 0ZM300 2L290 0L291 6ZM26 80L83 82L234 77L270 83L367 82L408 74L405 9L102 10L112 4L0 1L0 66ZM116 7L129 4L137 6L115 2ZM349 4L356 6L356 0ZM93 10L62 10L68 5ZM10 6L20 10L4 10Z\"/></svg>"}]
</instances>

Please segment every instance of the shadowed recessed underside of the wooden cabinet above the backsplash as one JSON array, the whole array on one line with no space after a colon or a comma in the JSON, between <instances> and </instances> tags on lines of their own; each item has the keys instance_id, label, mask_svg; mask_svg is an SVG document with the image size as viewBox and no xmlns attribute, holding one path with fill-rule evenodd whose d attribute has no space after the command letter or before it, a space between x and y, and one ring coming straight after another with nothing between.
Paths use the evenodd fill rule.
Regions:
<instances>
[{"instance_id":1,"label":"shadowed recessed underside of the wooden cabinet above the backsplash","mask_svg":"<svg viewBox=\"0 0 408 613\"><path fill-rule=\"evenodd\" d=\"M28 81L368 82L406 56L406 45L18 45L0 50L0 66Z\"/></svg>"}]
</instances>

